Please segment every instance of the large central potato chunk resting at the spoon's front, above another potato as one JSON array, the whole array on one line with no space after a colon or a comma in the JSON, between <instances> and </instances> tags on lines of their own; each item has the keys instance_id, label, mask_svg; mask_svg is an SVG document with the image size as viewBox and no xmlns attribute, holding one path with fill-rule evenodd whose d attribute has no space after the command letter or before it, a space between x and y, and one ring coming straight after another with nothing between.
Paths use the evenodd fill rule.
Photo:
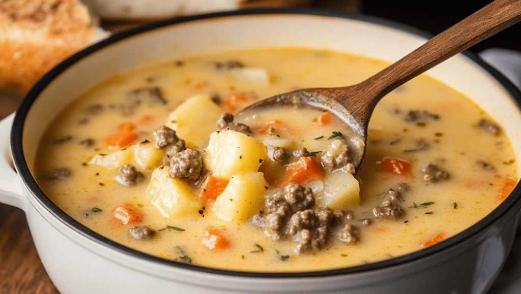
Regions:
<instances>
[{"instance_id":1,"label":"large central potato chunk resting at the spoon's front, above another potato","mask_svg":"<svg viewBox=\"0 0 521 294\"><path fill-rule=\"evenodd\" d=\"M268 154L262 142L240 132L225 130L210 135L206 167L219 178L258 171Z\"/></svg>"}]
</instances>

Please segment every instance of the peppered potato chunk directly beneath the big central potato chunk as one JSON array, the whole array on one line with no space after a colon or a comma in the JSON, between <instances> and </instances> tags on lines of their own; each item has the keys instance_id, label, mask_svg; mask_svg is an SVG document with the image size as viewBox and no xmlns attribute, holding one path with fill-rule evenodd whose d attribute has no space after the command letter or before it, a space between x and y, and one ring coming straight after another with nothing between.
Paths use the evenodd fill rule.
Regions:
<instances>
[{"instance_id":1,"label":"peppered potato chunk directly beneath the big central potato chunk","mask_svg":"<svg viewBox=\"0 0 521 294\"><path fill-rule=\"evenodd\" d=\"M212 210L221 220L245 221L262 209L267 186L262 172L234 175Z\"/></svg>"}]
</instances>

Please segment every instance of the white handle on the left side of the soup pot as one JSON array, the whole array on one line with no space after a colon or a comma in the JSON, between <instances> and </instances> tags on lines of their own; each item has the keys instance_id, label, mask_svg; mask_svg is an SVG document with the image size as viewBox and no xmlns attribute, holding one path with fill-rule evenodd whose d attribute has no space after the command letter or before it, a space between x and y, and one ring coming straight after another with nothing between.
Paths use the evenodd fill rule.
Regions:
<instances>
[{"instance_id":1,"label":"white handle on the left side of the soup pot","mask_svg":"<svg viewBox=\"0 0 521 294\"><path fill-rule=\"evenodd\" d=\"M23 196L21 180L14 168L9 138L15 113L0 121L0 202L25 211L27 198Z\"/></svg>"}]
</instances>

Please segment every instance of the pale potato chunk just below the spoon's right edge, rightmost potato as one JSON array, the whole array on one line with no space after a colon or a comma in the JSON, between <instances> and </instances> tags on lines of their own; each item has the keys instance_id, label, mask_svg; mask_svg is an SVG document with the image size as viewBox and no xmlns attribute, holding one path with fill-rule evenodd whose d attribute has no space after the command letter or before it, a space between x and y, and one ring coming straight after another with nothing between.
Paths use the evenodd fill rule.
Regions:
<instances>
[{"instance_id":1,"label":"pale potato chunk just below the spoon's right edge, rightmost potato","mask_svg":"<svg viewBox=\"0 0 521 294\"><path fill-rule=\"evenodd\" d=\"M330 209L342 209L360 202L360 187L356 178L343 170L327 175L324 188L316 195L317 204Z\"/></svg>"}]
</instances>

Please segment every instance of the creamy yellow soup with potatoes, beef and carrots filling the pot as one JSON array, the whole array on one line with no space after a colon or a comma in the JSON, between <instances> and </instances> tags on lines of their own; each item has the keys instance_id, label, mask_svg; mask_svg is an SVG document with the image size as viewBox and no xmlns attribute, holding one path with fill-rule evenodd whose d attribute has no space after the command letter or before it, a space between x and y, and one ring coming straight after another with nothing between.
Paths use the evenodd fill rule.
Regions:
<instances>
[{"instance_id":1,"label":"creamy yellow soup with potatoes, beef and carrots filling the pot","mask_svg":"<svg viewBox=\"0 0 521 294\"><path fill-rule=\"evenodd\" d=\"M501 126L421 75L377 105L355 174L350 160L364 142L329 111L237 114L385 66L288 48L122 73L56 117L36 178L94 232L169 260L295 272L399 257L463 231L510 193L519 175Z\"/></svg>"}]
</instances>

